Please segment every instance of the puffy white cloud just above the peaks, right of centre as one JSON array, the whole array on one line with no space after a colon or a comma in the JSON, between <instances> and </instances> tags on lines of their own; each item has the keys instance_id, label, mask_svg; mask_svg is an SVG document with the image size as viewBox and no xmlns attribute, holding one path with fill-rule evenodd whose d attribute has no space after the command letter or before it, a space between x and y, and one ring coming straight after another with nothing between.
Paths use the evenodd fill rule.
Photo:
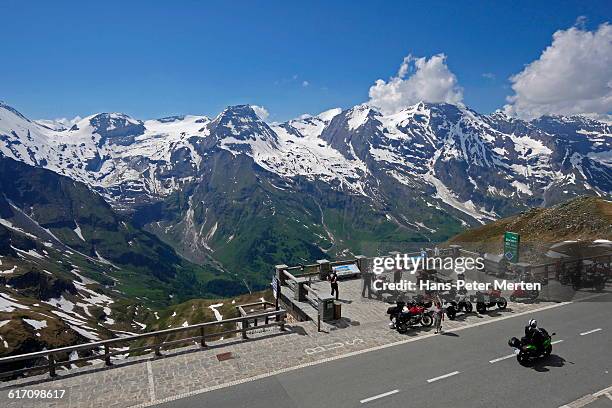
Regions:
<instances>
[{"instance_id":1,"label":"puffy white cloud just above the peaks, right of centre","mask_svg":"<svg viewBox=\"0 0 612 408\"><path fill-rule=\"evenodd\" d=\"M459 104L463 89L457 77L446 65L446 55L437 54L427 59L408 55L397 76L385 82L377 80L370 87L369 104L384 113L394 113L420 101Z\"/></svg>"}]
</instances>

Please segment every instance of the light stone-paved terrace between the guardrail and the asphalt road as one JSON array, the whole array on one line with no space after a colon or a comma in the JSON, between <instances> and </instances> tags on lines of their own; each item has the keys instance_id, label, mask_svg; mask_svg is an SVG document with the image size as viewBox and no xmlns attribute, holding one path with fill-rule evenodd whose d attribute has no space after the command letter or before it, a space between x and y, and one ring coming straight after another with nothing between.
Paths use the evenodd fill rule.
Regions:
<instances>
[{"instance_id":1,"label":"light stone-paved terrace between the guardrail and the asphalt road","mask_svg":"<svg viewBox=\"0 0 612 408\"><path fill-rule=\"evenodd\" d=\"M324 282L317 285L321 290L328 288ZM205 349L193 345L165 351L159 358L151 354L116 361L111 368L97 365L60 370L53 380L40 375L4 383L0 386L0 400L7 408L147 406L155 401L203 392L252 377L434 335L433 329L415 329L405 335L389 329L386 315L389 304L363 299L360 293L360 280L340 283L343 319L326 326L328 332L317 332L312 322L293 322L287 325L285 332L278 328L263 332L260 329L246 341L228 339L211 343ZM459 315L454 321L447 320L444 329L461 330L551 305L554 303L509 303L504 311L491 309L484 315ZM231 352L232 358L219 361L217 356L226 352ZM66 396L45 402L9 400L9 389L65 389Z\"/></svg>"}]
</instances>

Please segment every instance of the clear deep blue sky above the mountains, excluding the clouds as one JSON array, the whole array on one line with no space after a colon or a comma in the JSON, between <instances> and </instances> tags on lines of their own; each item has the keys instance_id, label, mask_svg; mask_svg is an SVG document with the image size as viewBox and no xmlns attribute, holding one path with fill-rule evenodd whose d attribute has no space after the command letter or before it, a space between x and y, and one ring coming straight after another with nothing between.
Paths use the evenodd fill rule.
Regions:
<instances>
[{"instance_id":1,"label":"clear deep blue sky above the mountains, excluding the clouds","mask_svg":"<svg viewBox=\"0 0 612 408\"><path fill-rule=\"evenodd\" d=\"M285 120L365 102L408 54L444 53L465 104L487 113L555 31L611 14L610 1L5 0L0 99L33 118L251 103Z\"/></svg>"}]
</instances>

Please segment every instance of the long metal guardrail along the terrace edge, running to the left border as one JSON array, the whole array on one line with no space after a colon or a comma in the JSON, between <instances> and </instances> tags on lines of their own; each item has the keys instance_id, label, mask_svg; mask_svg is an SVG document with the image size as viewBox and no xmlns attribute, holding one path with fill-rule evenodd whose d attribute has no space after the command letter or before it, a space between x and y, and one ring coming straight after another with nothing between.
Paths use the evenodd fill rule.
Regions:
<instances>
[{"instance_id":1,"label":"long metal guardrail along the terrace edge, running to the left border","mask_svg":"<svg viewBox=\"0 0 612 408\"><path fill-rule=\"evenodd\" d=\"M270 326L280 326L281 330L285 329L285 323L286 323L285 320L287 317L287 311L284 309L280 309L280 310L273 310L270 312L236 317L232 319L219 320L215 322L199 323L199 324L194 324L194 325L186 326L186 327L176 327L172 329L159 330L159 331L143 333L143 334L136 334L133 336L121 337L121 338L116 338L116 339L108 339L108 340L102 340L102 341L97 341L97 342L92 342L92 343L84 343L84 344L79 344L76 346L61 347L61 348L52 349L52 350L44 350L44 351L38 351L34 353L20 354L17 356L3 357L3 358L0 358L0 367L2 367L3 364L11 364L11 363L15 363L19 361L27 361L27 360L36 361L42 358L46 358L47 363L44 365L20 368L17 370L4 371L4 372L0 371L0 378L12 377L12 376L27 373L27 372L39 372L39 371L42 371L42 372L48 371L50 377L55 377L56 368L58 367L65 367L65 366L70 367L73 364L77 364L77 363L81 363L81 362L85 362L89 360L96 360L96 359L103 359L105 365L111 366L112 365L111 357L126 353L125 350L112 351L111 347L119 345L119 344L132 343L132 342L143 340L143 339L153 338L156 340L156 342L154 344L150 344L146 346L135 347L127 351L128 352L149 351L149 352L154 352L156 356L161 356L162 348L166 348L166 347L173 346L173 345L199 341L202 347L207 347L206 339L220 337L220 336L234 334L234 333L242 333L242 337L246 339L247 331L249 330L250 320L253 320L253 319L257 320L259 318L264 318L267 320L270 317L275 317L275 321L272 323L266 323L262 326L258 326L258 328L264 328L264 327L270 327ZM206 332L207 328L212 328L214 326L222 326L228 323L241 323L241 328L224 330L221 332L210 332L210 333ZM180 339L172 340L172 341L162 340L162 337L164 336L168 336L171 334L177 334L177 333L192 332L192 331L197 331L198 335L184 337L184 338L180 338ZM66 355L74 351L93 351L99 348L103 349L102 354L93 354L91 356L86 356L86 357L82 357L82 358L78 358L74 360L69 359L67 361L58 361L56 359L58 355Z\"/></svg>"}]
</instances>

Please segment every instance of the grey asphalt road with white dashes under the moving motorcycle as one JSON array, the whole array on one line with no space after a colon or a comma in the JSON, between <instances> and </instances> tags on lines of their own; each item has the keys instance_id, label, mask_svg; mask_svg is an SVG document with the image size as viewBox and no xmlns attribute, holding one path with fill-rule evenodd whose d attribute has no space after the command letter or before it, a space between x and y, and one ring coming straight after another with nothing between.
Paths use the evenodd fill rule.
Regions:
<instances>
[{"instance_id":1,"label":"grey asphalt road with white dashes under the moving motorcycle","mask_svg":"<svg viewBox=\"0 0 612 408\"><path fill-rule=\"evenodd\" d=\"M530 317L429 337L158 407L558 408L612 385L612 294L533 314L542 327L557 333L553 341L562 340L549 359L530 368L514 357L500 359L512 354L507 341L520 337ZM601 330L581 335L595 329Z\"/></svg>"}]
</instances>

